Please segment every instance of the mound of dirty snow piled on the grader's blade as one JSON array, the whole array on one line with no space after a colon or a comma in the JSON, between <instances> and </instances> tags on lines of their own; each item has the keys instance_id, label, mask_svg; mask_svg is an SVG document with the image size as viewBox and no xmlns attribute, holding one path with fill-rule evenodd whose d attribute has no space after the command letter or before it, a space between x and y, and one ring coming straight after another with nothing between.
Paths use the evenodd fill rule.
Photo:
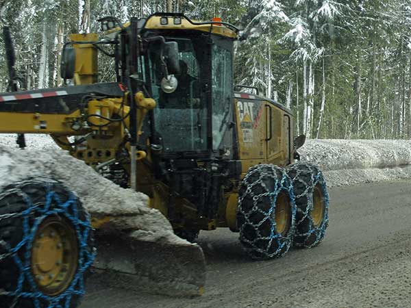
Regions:
<instances>
[{"instance_id":1,"label":"mound of dirty snow piled on the grader's blade","mask_svg":"<svg viewBox=\"0 0 411 308\"><path fill-rule=\"evenodd\" d=\"M174 235L160 211L147 206L145 194L120 188L66 151L42 147L26 151L0 145L0 188L29 177L57 179L79 196L92 216L110 216L103 231L124 231L143 242L190 245Z\"/></svg>"}]
</instances>

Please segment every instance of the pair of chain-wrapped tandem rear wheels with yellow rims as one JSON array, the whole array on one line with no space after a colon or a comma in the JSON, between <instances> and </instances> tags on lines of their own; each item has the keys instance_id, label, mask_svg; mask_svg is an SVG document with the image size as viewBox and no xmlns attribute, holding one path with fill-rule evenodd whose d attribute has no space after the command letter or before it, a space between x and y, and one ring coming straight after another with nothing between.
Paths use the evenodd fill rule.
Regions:
<instances>
[{"instance_id":1,"label":"pair of chain-wrapped tandem rear wheels with yellow rims","mask_svg":"<svg viewBox=\"0 0 411 308\"><path fill-rule=\"evenodd\" d=\"M292 245L312 248L325 236L328 203L317 166L253 166L238 192L240 242L253 259L282 257Z\"/></svg>"}]
</instances>

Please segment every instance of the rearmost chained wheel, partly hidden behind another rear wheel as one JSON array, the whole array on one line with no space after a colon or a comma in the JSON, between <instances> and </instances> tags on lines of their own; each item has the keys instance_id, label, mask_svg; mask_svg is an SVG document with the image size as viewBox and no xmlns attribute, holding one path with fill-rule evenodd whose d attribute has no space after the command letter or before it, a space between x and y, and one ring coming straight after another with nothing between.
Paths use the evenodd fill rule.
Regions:
<instances>
[{"instance_id":1,"label":"rearmost chained wheel, partly hidden behind another rear wheel","mask_svg":"<svg viewBox=\"0 0 411 308\"><path fill-rule=\"evenodd\" d=\"M294 246L312 248L321 243L328 227L327 184L319 167L297 162L288 169L297 205Z\"/></svg>"}]
</instances>

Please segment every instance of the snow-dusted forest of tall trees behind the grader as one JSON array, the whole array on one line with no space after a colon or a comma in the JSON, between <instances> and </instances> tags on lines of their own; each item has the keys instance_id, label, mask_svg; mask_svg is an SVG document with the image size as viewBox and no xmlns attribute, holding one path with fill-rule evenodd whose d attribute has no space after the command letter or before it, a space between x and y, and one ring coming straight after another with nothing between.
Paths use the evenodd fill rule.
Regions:
<instances>
[{"instance_id":1,"label":"snow-dusted forest of tall trees behind the grader","mask_svg":"<svg viewBox=\"0 0 411 308\"><path fill-rule=\"evenodd\" d=\"M0 27L10 26L29 90L62 86L58 63L69 34L99 31L103 16L125 22L167 10L244 29L236 84L290 107L298 134L410 138L411 0L0 0ZM1 38L0 92L7 72ZM100 81L113 75L100 66Z\"/></svg>"}]
</instances>

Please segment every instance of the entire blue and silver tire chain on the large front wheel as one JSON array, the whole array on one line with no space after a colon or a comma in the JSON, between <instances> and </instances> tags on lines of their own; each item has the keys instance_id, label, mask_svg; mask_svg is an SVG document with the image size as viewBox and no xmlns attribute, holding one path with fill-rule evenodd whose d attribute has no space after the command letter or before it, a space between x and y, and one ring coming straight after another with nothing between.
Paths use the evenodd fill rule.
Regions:
<instances>
[{"instance_id":1,"label":"entire blue and silver tire chain on the large front wheel","mask_svg":"<svg viewBox=\"0 0 411 308\"><path fill-rule=\"evenodd\" d=\"M33 205L29 196L27 196L27 194L19 188L23 185L31 184L44 185L45 190L48 191L44 206ZM70 307L72 295L84 296L84 272L86 272L86 270L88 270L88 268L90 268L90 266L92 265L92 262L95 259L97 251L95 247L92 247L91 253L90 251L88 251L87 241L90 236L90 231L92 231L92 227L90 225L90 216L86 212L86 220L83 221L79 219L77 209L73 211L73 215L67 213L66 209L70 207L70 205L75 204L78 200L78 197L73 192L70 192L69 199L66 202L62 203L57 194L54 194L54 192L49 191L51 185L53 184L62 185L62 183L51 179L31 179L16 182L13 185L16 185L17 187L5 190L5 192L2 192L0 194L0 200L10 194L17 194L18 196L21 196L28 205L27 209L24 209L23 211L0 215L0 222L2 220L10 220L12 218L18 217L22 217L23 219L25 219L25 223L23 223L24 238L21 240L21 242L19 242L15 247L10 247L5 241L0 241L0 248L5 248L4 250L7 251L6 253L0 253L0 262L4 259L12 257L14 259L14 263L16 264L16 266L19 268L19 270L21 270L21 274L18 277L17 289L15 291L10 292L0 288L0 296L10 296L14 298L12 305L8 308L14 308L18 303L18 298L32 298L34 308L63 308L63 306L60 305L61 301L64 301L64 308L67 308ZM64 185L62 186L66 188ZM49 206L53 201L57 203L58 206L55 209L49 209ZM38 288L36 287L36 284L34 283L31 269L29 268L29 266L27 266L27 264L29 264L29 259L31 257L30 250L32 243L30 242L30 240L33 240L38 225L40 224L40 222L35 222L33 226L30 227L27 220L29 217L36 216L38 212L42 214L37 218L40 220L44 220L47 216L50 215L64 215L74 224L76 229L75 231L77 233L77 240L79 240L79 256L81 258L79 260L79 271L75 274L75 277L71 282L71 285L59 296L47 296L39 292ZM24 257L21 258L20 256L18 256L18 251L20 251L20 249L23 248L23 246L27 246L27 249L24 254ZM22 290L24 283L29 284L29 287L32 290L32 292L25 292ZM47 301L49 305L47 305L46 307L40 305L40 300Z\"/></svg>"}]
</instances>

